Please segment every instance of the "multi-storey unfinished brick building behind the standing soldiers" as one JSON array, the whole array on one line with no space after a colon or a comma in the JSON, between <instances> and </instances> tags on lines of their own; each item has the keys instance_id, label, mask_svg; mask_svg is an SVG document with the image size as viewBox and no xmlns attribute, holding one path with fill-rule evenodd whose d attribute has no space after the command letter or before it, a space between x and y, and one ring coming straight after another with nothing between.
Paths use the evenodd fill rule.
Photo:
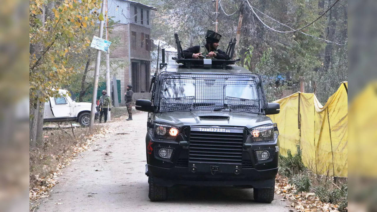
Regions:
<instances>
[{"instance_id":1,"label":"multi-storey unfinished brick building behind the standing soldiers","mask_svg":"<svg viewBox=\"0 0 377 212\"><path fill-rule=\"evenodd\" d=\"M118 22L110 36L120 38L120 45L110 51L110 60L126 63L125 68L116 73L117 80L121 80L120 105L124 105L127 84L133 86L133 100L149 92L150 52L153 51L150 18L156 8L129 0L109 1L107 7L109 17Z\"/></svg>"}]
</instances>

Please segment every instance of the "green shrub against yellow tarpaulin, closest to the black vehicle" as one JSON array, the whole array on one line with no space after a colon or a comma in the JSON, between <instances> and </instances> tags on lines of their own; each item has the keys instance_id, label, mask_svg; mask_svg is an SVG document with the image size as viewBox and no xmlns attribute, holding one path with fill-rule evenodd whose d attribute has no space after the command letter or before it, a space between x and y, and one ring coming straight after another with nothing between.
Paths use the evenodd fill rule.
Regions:
<instances>
[{"instance_id":1,"label":"green shrub against yellow tarpaulin, closest to the black vehicle","mask_svg":"<svg viewBox=\"0 0 377 212\"><path fill-rule=\"evenodd\" d=\"M300 146L297 146L297 154L295 155L292 155L289 149L287 151L287 157L279 155L279 174L290 178L293 175L305 171L306 168L302 163L301 155Z\"/></svg>"}]
</instances>

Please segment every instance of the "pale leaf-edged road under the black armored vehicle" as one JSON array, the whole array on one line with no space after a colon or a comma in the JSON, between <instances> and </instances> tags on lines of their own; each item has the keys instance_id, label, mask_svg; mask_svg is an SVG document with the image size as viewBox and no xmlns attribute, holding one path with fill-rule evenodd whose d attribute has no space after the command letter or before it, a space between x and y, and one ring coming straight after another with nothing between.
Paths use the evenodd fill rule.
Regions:
<instances>
[{"instance_id":1,"label":"pale leaf-edged road under the black armored vehicle","mask_svg":"<svg viewBox=\"0 0 377 212\"><path fill-rule=\"evenodd\" d=\"M186 187L169 189L164 202L148 198L144 174L147 113L133 121L107 123L112 135L94 142L71 165L62 170L49 198L38 212L100 211L268 211L288 212L288 202L275 195L271 204L253 201L253 189Z\"/></svg>"}]
</instances>

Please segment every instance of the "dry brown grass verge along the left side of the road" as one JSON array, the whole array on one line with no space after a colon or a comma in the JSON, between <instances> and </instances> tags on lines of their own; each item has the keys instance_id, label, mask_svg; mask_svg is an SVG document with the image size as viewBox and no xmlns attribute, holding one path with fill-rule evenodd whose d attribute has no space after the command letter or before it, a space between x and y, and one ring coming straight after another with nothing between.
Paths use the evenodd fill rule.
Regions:
<instances>
[{"instance_id":1,"label":"dry brown grass verge along the left side of the road","mask_svg":"<svg viewBox=\"0 0 377 212\"><path fill-rule=\"evenodd\" d=\"M64 131L63 131L64 130ZM30 188L39 183L37 178L46 178L56 172L58 164L69 157L75 146L86 141L90 135L101 131L101 126L90 128L44 130L43 142L37 147L30 147L29 169Z\"/></svg>"}]
</instances>

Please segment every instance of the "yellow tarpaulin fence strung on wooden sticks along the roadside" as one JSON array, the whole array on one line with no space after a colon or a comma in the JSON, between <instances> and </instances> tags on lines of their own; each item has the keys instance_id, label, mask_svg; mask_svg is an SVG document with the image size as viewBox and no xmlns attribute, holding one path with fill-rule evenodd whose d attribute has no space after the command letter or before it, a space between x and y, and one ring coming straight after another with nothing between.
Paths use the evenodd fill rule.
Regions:
<instances>
[{"instance_id":1,"label":"yellow tarpaulin fence strung on wooden sticks along the roadside","mask_svg":"<svg viewBox=\"0 0 377 212\"><path fill-rule=\"evenodd\" d=\"M347 89L343 82L325 106L314 94L297 92L276 100L280 113L269 115L279 129L280 154L302 149L302 161L316 174L347 177Z\"/></svg>"}]
</instances>

